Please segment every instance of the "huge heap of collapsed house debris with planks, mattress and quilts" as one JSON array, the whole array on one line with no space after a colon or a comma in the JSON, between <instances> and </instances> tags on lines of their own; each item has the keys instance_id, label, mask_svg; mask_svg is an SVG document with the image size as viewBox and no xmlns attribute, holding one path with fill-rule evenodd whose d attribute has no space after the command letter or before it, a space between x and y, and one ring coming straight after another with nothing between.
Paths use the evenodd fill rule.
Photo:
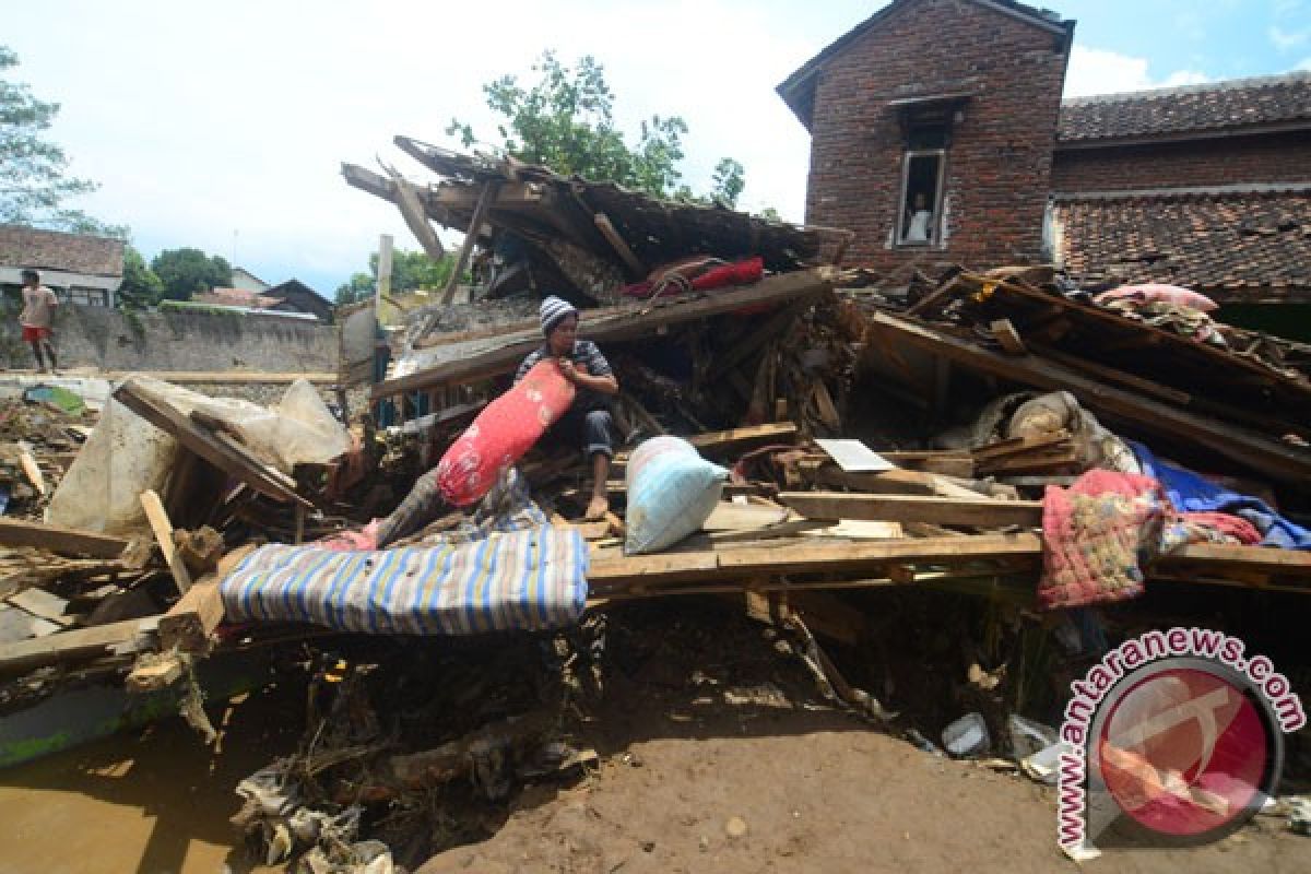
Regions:
<instances>
[{"instance_id":1,"label":"huge heap of collapsed house debris with planks, mattress and quilts","mask_svg":"<svg viewBox=\"0 0 1311 874\"><path fill-rule=\"evenodd\" d=\"M785 666L785 689L760 680L739 700L813 698L926 750L947 729L958 755L1029 763L1050 738L1024 717L1058 713L1059 671L1142 621L1096 605L1311 592L1304 346L1196 309L1097 303L1045 267L952 269L902 297L821 265L840 257L840 232L397 144L444 181L346 166L347 181L397 203L429 248L429 220L472 231L461 259L492 253L484 292L594 304L582 333L621 388L611 512L579 522L585 465L538 447L479 503L387 549L351 540L541 343L536 322L442 334L417 311L372 389L397 404L396 427L346 428L308 385L262 409L134 377L71 464L55 456L69 455L60 435L85 438L72 425L41 438L49 455L26 451L50 523L0 520L7 708L113 677L172 692L212 731L201 667L295 654L304 740L236 788L233 822L267 864L418 864L494 828L522 782L585 777L595 701L641 639L633 617L659 616L648 634L676 649L704 632L669 618L691 599L714 604L701 618L763 626L720 641L729 662ZM49 426L34 404L12 415L37 446ZM633 451L667 434L717 465L718 499L691 536L632 554ZM37 480L18 459L10 482ZM1112 507L1105 528L1079 522L1092 504ZM1114 573L1088 569L1101 536L1133 545ZM950 646L929 638L952 634L968 664L941 656L940 684L919 663L894 681L895 653L922 643L936 666ZM915 700L911 687L935 685L956 712Z\"/></svg>"}]
</instances>

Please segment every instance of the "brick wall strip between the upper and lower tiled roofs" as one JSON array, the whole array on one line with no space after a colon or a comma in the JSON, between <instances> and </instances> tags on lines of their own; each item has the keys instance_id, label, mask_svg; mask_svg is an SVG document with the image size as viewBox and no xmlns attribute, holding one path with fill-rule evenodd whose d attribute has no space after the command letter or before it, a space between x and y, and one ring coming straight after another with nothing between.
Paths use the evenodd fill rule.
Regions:
<instances>
[{"instance_id":1,"label":"brick wall strip between the upper and lower tiled roofs","mask_svg":"<svg viewBox=\"0 0 1311 874\"><path fill-rule=\"evenodd\" d=\"M1311 182L1311 132L1057 151L1058 193Z\"/></svg>"}]
</instances>

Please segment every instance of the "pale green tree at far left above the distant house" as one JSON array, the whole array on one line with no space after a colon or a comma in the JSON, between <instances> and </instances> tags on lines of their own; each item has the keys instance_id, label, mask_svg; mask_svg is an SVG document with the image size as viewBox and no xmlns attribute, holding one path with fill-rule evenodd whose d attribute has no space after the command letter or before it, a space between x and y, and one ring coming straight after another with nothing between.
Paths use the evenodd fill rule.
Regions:
<instances>
[{"instance_id":1,"label":"pale green tree at far left above the distant house","mask_svg":"<svg viewBox=\"0 0 1311 874\"><path fill-rule=\"evenodd\" d=\"M68 198L89 194L98 186L67 176L68 156L45 138L59 114L59 104L37 100L26 84L9 81L4 73L17 66L18 55L0 46L0 224L126 238L127 228L106 225L63 206Z\"/></svg>"}]
</instances>

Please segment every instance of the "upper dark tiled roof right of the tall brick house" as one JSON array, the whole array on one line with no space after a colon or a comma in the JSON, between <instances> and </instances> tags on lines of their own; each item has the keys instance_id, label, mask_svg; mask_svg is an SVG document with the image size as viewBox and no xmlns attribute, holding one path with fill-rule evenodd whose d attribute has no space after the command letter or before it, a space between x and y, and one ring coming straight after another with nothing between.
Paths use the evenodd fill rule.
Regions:
<instances>
[{"instance_id":1,"label":"upper dark tiled roof right of the tall brick house","mask_svg":"<svg viewBox=\"0 0 1311 874\"><path fill-rule=\"evenodd\" d=\"M1057 140L1160 138L1303 122L1311 126L1311 72L1066 100Z\"/></svg>"}]
</instances>

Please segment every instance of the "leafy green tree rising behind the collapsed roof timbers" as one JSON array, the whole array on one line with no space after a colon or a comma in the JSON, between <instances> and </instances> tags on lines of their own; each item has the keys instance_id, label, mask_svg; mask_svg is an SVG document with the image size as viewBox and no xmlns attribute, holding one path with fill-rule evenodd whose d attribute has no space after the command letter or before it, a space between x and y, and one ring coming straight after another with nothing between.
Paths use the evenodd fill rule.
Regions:
<instances>
[{"instance_id":1,"label":"leafy green tree rising behind the collapsed roof timbers","mask_svg":"<svg viewBox=\"0 0 1311 874\"><path fill-rule=\"evenodd\" d=\"M595 58L583 55L576 67L566 67L547 51L532 69L539 75L532 85L502 76L482 86L488 106L505 119L497 126L502 149L564 176L617 182L658 198L705 200L680 182L688 132L680 117L652 115L642 122L636 145L629 145L615 126L615 94ZM465 148L477 142L473 128L458 118L446 132L459 135ZM737 206L742 185L742 165L722 159L713 199Z\"/></svg>"}]
</instances>

